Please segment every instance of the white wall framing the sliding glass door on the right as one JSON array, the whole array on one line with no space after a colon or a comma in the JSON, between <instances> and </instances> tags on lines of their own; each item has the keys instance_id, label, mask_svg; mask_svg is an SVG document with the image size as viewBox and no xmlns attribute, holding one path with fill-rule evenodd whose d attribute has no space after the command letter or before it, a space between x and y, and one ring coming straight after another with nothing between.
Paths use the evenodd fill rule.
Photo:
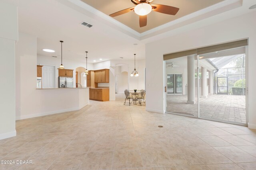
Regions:
<instances>
[{"instance_id":1,"label":"white wall framing the sliding glass door on the right","mask_svg":"<svg viewBox=\"0 0 256 170\"><path fill-rule=\"evenodd\" d=\"M214 23L198 29L192 29L178 35L146 44L146 110L163 113L164 76L163 54L184 51L197 47L249 38L248 47L248 127L256 129L256 12ZM208 18L206 20L211 20ZM205 20L202 20L202 22ZM194 23L195 24L195 23ZM188 25L187 27L190 27ZM149 69L154 68L154 69ZM158 99L158 102L155 102Z\"/></svg>"}]
</instances>

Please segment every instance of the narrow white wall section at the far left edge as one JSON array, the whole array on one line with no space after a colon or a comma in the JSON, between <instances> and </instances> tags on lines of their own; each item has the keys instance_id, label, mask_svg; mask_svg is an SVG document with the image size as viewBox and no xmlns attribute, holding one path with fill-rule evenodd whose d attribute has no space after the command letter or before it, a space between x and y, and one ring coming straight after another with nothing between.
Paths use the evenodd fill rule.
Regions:
<instances>
[{"instance_id":1,"label":"narrow white wall section at the far left edge","mask_svg":"<svg viewBox=\"0 0 256 170\"><path fill-rule=\"evenodd\" d=\"M8 17L6 17L8 16ZM16 136L15 41L18 40L17 7L0 1L0 139Z\"/></svg>"}]
</instances>

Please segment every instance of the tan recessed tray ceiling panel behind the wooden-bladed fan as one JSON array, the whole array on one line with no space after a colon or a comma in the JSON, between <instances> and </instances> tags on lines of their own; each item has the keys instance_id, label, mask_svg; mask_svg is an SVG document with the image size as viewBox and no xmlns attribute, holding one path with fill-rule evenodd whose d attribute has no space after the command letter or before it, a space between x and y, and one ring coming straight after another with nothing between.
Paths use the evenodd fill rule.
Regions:
<instances>
[{"instance_id":1,"label":"tan recessed tray ceiling panel behind the wooden-bladed fan","mask_svg":"<svg viewBox=\"0 0 256 170\"><path fill-rule=\"evenodd\" d=\"M135 7L135 4L131 0L82 0L86 4L96 8L106 15L113 14L115 12ZM128 12L120 16L114 17L115 20L120 21L124 25L143 33L170 21L176 20L198 10L202 10L208 6L217 4L224 0L154 0L153 4L163 4L168 6L174 6L180 8L175 16L162 14L159 12L150 12L147 15L147 25L140 27L139 16L135 12Z\"/></svg>"}]
</instances>

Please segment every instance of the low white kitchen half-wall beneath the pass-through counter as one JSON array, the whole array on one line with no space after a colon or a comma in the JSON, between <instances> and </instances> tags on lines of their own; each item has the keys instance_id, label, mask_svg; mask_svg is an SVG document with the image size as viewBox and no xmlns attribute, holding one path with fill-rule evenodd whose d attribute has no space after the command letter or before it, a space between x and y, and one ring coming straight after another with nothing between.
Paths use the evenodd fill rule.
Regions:
<instances>
[{"instance_id":1,"label":"low white kitchen half-wall beneath the pass-through counter","mask_svg":"<svg viewBox=\"0 0 256 170\"><path fill-rule=\"evenodd\" d=\"M16 120L80 110L89 104L89 87L42 88L26 94L28 100L35 96L33 104L22 105Z\"/></svg>"}]
</instances>

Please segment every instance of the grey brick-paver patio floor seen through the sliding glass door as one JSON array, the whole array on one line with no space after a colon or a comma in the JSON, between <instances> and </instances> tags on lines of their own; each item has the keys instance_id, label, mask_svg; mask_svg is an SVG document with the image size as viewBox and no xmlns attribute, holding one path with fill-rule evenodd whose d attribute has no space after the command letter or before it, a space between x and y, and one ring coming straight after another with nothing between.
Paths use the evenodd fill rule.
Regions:
<instances>
[{"instance_id":1,"label":"grey brick-paver patio floor seen through the sliding glass door","mask_svg":"<svg viewBox=\"0 0 256 170\"><path fill-rule=\"evenodd\" d=\"M209 95L199 98L200 117L246 123L245 96ZM167 111L198 116L196 104L187 104L187 95L167 95Z\"/></svg>"}]
</instances>

